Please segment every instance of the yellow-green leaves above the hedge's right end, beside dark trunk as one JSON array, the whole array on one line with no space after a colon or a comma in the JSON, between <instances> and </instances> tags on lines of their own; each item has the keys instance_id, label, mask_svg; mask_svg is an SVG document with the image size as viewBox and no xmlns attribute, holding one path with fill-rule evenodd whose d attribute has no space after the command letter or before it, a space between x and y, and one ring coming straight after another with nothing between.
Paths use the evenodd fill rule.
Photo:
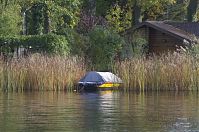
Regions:
<instances>
[{"instance_id":1,"label":"yellow-green leaves above the hedge's right end, beside dark trunk","mask_svg":"<svg viewBox=\"0 0 199 132\"><path fill-rule=\"evenodd\" d=\"M79 21L81 2L79 0L48 0L51 28L58 30L66 25L73 28Z\"/></svg>"}]
</instances>

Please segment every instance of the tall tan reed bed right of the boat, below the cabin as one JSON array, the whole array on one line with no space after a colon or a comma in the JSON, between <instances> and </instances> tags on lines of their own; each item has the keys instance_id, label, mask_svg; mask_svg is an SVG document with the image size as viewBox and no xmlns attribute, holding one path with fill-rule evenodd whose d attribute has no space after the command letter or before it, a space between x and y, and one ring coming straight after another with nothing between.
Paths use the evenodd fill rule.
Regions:
<instances>
[{"instance_id":1,"label":"tall tan reed bed right of the boat, below the cabin","mask_svg":"<svg viewBox=\"0 0 199 132\"><path fill-rule=\"evenodd\" d=\"M133 58L116 63L126 90L198 90L199 61L182 54Z\"/></svg>"}]
</instances>

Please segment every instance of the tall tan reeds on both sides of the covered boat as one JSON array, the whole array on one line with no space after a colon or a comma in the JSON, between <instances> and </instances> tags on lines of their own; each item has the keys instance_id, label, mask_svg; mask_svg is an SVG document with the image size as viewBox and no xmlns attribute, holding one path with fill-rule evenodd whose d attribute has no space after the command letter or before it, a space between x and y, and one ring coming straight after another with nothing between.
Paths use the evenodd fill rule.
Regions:
<instances>
[{"instance_id":1,"label":"tall tan reeds on both sides of the covered boat","mask_svg":"<svg viewBox=\"0 0 199 132\"><path fill-rule=\"evenodd\" d=\"M72 91L89 71L79 57L31 55L0 59L2 91ZM199 60L173 53L135 57L115 62L111 71L122 80L124 91L198 91Z\"/></svg>"}]
</instances>

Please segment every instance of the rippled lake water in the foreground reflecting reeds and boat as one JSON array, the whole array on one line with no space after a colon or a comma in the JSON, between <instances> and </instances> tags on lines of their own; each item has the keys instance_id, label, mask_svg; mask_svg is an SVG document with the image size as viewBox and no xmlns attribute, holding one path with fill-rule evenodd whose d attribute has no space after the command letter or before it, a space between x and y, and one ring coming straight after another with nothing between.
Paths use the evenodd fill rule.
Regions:
<instances>
[{"instance_id":1,"label":"rippled lake water in the foreground reflecting reeds and boat","mask_svg":"<svg viewBox=\"0 0 199 132\"><path fill-rule=\"evenodd\" d=\"M0 132L199 132L199 93L0 93Z\"/></svg>"}]
</instances>

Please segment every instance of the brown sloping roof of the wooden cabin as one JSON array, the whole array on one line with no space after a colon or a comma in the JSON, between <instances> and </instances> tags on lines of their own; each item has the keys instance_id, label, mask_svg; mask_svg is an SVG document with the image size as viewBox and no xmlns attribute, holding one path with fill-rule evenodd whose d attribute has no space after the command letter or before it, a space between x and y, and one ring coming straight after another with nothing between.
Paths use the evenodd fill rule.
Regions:
<instances>
[{"instance_id":1,"label":"brown sloping roof of the wooden cabin","mask_svg":"<svg viewBox=\"0 0 199 132\"><path fill-rule=\"evenodd\" d=\"M189 42L194 42L195 38L199 38L199 23L197 22L146 21L128 29L125 34L142 27L151 27Z\"/></svg>"}]
</instances>

